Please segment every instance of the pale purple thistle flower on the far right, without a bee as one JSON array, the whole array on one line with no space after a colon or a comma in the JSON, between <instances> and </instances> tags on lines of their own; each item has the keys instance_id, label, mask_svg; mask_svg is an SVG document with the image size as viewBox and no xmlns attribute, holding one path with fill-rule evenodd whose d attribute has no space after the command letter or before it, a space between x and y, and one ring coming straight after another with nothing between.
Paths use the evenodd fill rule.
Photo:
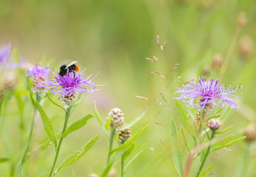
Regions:
<instances>
[{"instance_id":1,"label":"pale purple thistle flower on the far right, without a bee","mask_svg":"<svg viewBox=\"0 0 256 177\"><path fill-rule=\"evenodd\" d=\"M224 84L219 84L220 79L213 80L212 77L209 77L209 80L206 80L206 76L202 77L202 79L199 77L199 83L197 84L194 81L191 81L194 85L183 85L183 88L177 87L179 90L175 92L176 93L182 93L180 97L176 97L176 100L181 100L183 102L188 103L188 106L194 107L194 106L200 106L200 109L203 109L205 105L208 105L212 103L214 106L219 107L219 105L215 102L215 100L219 99L222 109L224 109L224 103L228 103L231 108L241 108L238 106L238 104L235 103L232 97L235 97L236 100L241 97L233 95L232 93L236 93L236 90L234 91L228 91L224 89ZM194 103L194 100L198 97L200 97L200 102ZM183 100L188 99L188 100Z\"/></svg>"}]
</instances>

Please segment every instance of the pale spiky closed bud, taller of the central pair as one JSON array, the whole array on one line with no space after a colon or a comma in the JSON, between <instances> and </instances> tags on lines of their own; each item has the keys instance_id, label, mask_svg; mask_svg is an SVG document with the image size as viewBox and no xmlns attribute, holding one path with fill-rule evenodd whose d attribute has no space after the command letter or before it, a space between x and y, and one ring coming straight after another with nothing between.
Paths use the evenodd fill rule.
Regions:
<instances>
[{"instance_id":1,"label":"pale spiky closed bud, taller of the central pair","mask_svg":"<svg viewBox=\"0 0 256 177\"><path fill-rule=\"evenodd\" d=\"M122 113L122 110L119 108L113 108L108 113L108 116L110 117L110 128L111 129L119 129L124 124L124 113Z\"/></svg>"}]
</instances>

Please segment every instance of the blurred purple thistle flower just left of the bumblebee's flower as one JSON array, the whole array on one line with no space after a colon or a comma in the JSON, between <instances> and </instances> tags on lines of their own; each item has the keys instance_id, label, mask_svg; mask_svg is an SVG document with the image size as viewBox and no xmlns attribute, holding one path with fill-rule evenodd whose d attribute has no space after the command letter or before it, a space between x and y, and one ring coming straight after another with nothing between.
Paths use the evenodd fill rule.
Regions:
<instances>
[{"instance_id":1,"label":"blurred purple thistle flower just left of the bumblebee's flower","mask_svg":"<svg viewBox=\"0 0 256 177\"><path fill-rule=\"evenodd\" d=\"M33 79L46 79L51 74L51 67L49 68L49 65L47 65L46 67L41 67L41 63L36 63L35 66L26 67L26 71L28 73L26 74L26 77L32 76Z\"/></svg>"}]
</instances>

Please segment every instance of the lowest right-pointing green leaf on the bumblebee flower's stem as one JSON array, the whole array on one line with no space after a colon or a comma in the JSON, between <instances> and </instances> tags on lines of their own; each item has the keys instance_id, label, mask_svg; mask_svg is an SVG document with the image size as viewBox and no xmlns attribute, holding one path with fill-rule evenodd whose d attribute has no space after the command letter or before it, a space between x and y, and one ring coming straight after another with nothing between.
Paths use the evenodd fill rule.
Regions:
<instances>
[{"instance_id":1,"label":"lowest right-pointing green leaf on the bumblebee flower's stem","mask_svg":"<svg viewBox=\"0 0 256 177\"><path fill-rule=\"evenodd\" d=\"M87 144L85 144L80 151L76 151L74 155L68 156L63 162L61 162L58 169L54 170L54 174L56 174L58 171L60 171L61 168L68 166L72 163L74 163L76 160L80 159L91 147L93 144L97 141L99 135L94 136Z\"/></svg>"}]
</instances>

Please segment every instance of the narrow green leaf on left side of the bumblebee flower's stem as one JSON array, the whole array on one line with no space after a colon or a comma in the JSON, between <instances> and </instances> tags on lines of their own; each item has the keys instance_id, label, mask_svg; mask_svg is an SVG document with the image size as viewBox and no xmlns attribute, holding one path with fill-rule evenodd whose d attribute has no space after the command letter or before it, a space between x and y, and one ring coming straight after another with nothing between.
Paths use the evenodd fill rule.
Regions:
<instances>
[{"instance_id":1,"label":"narrow green leaf on left side of the bumblebee flower's stem","mask_svg":"<svg viewBox=\"0 0 256 177\"><path fill-rule=\"evenodd\" d=\"M54 127L52 125L51 120L48 118L47 114L45 113L43 107L38 103L38 101L36 101L36 107L37 110L39 111L43 124L44 124L44 129L46 131L46 133L48 134L48 136L50 137L50 139L52 140L53 144L55 145L55 149L57 149L57 137L55 134L55 130Z\"/></svg>"}]
</instances>

